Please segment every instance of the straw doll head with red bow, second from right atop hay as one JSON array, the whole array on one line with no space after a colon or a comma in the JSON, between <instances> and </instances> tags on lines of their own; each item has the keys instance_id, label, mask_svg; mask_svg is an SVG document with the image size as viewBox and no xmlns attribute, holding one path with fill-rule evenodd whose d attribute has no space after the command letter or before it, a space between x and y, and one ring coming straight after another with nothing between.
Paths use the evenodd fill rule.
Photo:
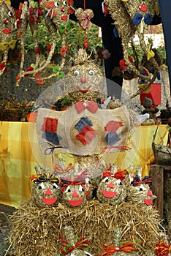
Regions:
<instances>
[{"instance_id":1,"label":"straw doll head with red bow, second from right atop hay","mask_svg":"<svg viewBox=\"0 0 171 256\"><path fill-rule=\"evenodd\" d=\"M126 198L126 178L122 170L115 171L111 168L103 172L103 179L97 189L97 197L101 203L109 203L113 206L123 202Z\"/></svg>"}]
</instances>

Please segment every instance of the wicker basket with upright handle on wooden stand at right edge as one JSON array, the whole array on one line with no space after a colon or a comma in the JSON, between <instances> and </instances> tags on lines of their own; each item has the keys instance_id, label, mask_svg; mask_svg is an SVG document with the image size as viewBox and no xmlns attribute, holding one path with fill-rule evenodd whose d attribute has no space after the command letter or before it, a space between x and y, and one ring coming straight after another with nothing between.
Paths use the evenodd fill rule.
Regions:
<instances>
[{"instance_id":1,"label":"wicker basket with upright handle on wooden stand at right edge","mask_svg":"<svg viewBox=\"0 0 171 256\"><path fill-rule=\"evenodd\" d=\"M159 165L171 165L171 149L168 148L167 146L164 146L162 143L156 144L154 142L158 128L159 128L159 125L157 126L156 132L153 135L153 142L152 142L152 149L153 149L155 162L156 164L159 164Z\"/></svg>"}]
</instances>

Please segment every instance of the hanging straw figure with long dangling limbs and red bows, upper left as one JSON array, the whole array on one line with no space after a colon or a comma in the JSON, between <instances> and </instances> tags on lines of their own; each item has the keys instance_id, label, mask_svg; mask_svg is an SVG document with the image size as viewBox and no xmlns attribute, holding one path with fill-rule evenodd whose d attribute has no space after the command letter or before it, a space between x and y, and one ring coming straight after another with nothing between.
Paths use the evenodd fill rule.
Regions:
<instances>
[{"instance_id":1,"label":"hanging straw figure with long dangling limbs and red bows, upper left","mask_svg":"<svg viewBox=\"0 0 171 256\"><path fill-rule=\"evenodd\" d=\"M24 2L23 6L21 7L21 14L20 15L20 41L21 41L21 61L20 61L20 72L16 78L17 80L17 86L19 86L20 79L25 78L29 75L34 75L34 79L37 80L38 83L41 83L39 81L46 80L49 78L52 78L55 75L58 75L59 70L54 72L53 74L41 78L40 72L47 67L48 64L50 64L50 61L53 58L55 48L56 48L56 34L59 33L61 37L61 64L59 69L61 70L64 67L66 56L69 52L68 45L66 45L66 34L69 29L67 26L69 21L69 13L72 13L73 10L70 7L70 4L72 4L72 1L69 1L69 4L67 1L39 1L39 4L34 1L29 1L29 7L28 3ZM41 22L41 18L44 18L45 26L47 28L47 32L50 34L51 37L51 45L48 44L47 47L47 59L45 59L38 47L37 42L37 35L40 32L38 23ZM27 31L28 24L31 27L31 32L34 39L34 48L36 53L36 61L35 64L31 67L28 67L27 69L23 70L24 60L25 60L25 34Z\"/></svg>"}]
</instances>

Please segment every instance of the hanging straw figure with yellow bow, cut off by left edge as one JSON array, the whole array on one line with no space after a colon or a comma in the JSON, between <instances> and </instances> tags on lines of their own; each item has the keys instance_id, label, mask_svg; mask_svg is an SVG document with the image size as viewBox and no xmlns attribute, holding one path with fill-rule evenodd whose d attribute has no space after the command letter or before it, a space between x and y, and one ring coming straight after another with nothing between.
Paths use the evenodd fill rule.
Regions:
<instances>
[{"instance_id":1,"label":"hanging straw figure with yellow bow, cut off by left edge","mask_svg":"<svg viewBox=\"0 0 171 256\"><path fill-rule=\"evenodd\" d=\"M9 49L13 50L16 45L16 22L15 11L11 6L11 1L0 1L0 75L7 72Z\"/></svg>"}]
</instances>

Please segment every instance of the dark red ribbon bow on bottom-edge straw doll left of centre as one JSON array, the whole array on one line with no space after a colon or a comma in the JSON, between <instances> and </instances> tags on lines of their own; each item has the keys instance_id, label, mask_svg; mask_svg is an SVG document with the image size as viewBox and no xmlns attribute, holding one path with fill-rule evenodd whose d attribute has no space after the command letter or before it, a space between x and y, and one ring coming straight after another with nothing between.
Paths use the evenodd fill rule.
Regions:
<instances>
[{"instance_id":1,"label":"dark red ribbon bow on bottom-edge straw doll left of centre","mask_svg":"<svg viewBox=\"0 0 171 256\"><path fill-rule=\"evenodd\" d=\"M68 255L74 249L88 249L89 247L89 241L84 237L77 238L75 245L73 245L69 244L69 242L66 241L66 239L63 236L61 236L61 234L59 234L58 242L62 246L62 248L59 250L60 255Z\"/></svg>"}]
</instances>

